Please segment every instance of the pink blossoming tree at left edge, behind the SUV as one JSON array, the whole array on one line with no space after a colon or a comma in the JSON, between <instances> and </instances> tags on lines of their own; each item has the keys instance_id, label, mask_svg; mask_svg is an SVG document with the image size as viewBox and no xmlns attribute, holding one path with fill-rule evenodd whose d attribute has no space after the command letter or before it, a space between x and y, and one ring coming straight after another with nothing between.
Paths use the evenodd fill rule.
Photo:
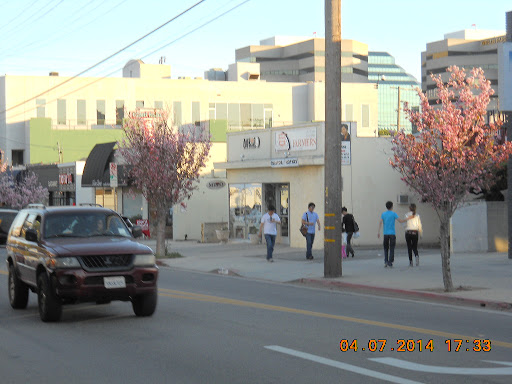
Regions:
<instances>
[{"instance_id":1,"label":"pink blossoming tree at left edge, behind the SUV","mask_svg":"<svg viewBox=\"0 0 512 384\"><path fill-rule=\"evenodd\" d=\"M44 203L48 199L48 189L44 188L34 172L24 173L16 181L12 174L0 174L0 202L8 207L20 209L31 203Z\"/></svg>"}]
</instances>

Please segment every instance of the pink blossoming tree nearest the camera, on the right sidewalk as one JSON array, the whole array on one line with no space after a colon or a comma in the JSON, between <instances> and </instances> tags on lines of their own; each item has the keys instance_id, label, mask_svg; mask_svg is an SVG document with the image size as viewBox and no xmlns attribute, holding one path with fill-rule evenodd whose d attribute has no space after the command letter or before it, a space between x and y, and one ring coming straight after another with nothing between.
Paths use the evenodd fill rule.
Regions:
<instances>
[{"instance_id":1,"label":"pink blossoming tree nearest the camera, on the right sidewalk","mask_svg":"<svg viewBox=\"0 0 512 384\"><path fill-rule=\"evenodd\" d=\"M419 134L401 131L394 136L390 164L439 217L444 289L453 291L450 218L470 191L492 185L496 167L512 153L512 143L499 137L500 121L486 124L486 108L494 91L483 70L475 68L467 75L464 69L452 66L448 71L447 83L432 75L437 105L429 105L420 90L421 111L405 105Z\"/></svg>"}]
</instances>

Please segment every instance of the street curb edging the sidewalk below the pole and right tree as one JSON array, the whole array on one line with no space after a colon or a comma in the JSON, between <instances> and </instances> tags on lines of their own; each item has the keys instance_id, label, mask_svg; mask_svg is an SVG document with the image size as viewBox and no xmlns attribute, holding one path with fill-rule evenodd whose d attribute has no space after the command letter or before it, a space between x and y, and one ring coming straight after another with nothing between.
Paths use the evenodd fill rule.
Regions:
<instances>
[{"instance_id":1,"label":"street curb edging the sidewalk below the pole and right tree","mask_svg":"<svg viewBox=\"0 0 512 384\"><path fill-rule=\"evenodd\" d=\"M294 280L295 283L307 284L307 285L320 285L324 287L337 287L337 288L348 288L352 290L358 291L373 291L379 293L396 293L400 295L406 296L416 296L420 298L426 299L434 299L445 301L448 303L460 303L467 305L474 305L482 308L493 308L500 310L511 310L512 303L500 302L500 301L492 301L492 300L476 300L476 299L468 299L465 297L456 297L456 296L448 296L449 293L439 294L425 291L411 291L406 289L398 289L398 288L386 288L386 287L378 287L373 285L364 285L364 284L353 284L353 283L345 283L341 281L331 281L331 280L321 280L321 279L309 279L309 278L301 278L298 280Z\"/></svg>"}]
</instances>

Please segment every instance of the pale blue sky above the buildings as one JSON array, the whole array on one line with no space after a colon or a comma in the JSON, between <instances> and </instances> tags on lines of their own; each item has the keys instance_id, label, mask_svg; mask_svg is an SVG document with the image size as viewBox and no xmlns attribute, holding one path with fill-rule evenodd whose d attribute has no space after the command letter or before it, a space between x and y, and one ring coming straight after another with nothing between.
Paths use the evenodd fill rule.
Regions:
<instances>
[{"instance_id":1,"label":"pale blue sky above the buildings","mask_svg":"<svg viewBox=\"0 0 512 384\"><path fill-rule=\"evenodd\" d=\"M165 61L172 78L203 77L210 68L226 70L236 49L268 37L324 37L324 5L320 0L0 0L0 76L55 71L119 77L129 60L142 59ZM420 80L427 43L463 29L505 31L507 11L511 0L342 0L342 38L390 53Z\"/></svg>"}]
</instances>

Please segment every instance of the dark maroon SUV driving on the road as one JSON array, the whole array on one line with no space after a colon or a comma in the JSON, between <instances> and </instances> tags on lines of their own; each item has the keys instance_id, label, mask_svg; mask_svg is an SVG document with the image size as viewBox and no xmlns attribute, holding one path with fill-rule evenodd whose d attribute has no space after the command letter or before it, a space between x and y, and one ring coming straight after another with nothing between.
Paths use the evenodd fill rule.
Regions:
<instances>
[{"instance_id":1,"label":"dark maroon SUV driving on the road","mask_svg":"<svg viewBox=\"0 0 512 384\"><path fill-rule=\"evenodd\" d=\"M9 301L27 307L37 294L43 321L59 321L62 306L131 301L137 316L157 304L158 267L151 248L138 243L116 212L101 207L29 206L7 238Z\"/></svg>"}]
</instances>

